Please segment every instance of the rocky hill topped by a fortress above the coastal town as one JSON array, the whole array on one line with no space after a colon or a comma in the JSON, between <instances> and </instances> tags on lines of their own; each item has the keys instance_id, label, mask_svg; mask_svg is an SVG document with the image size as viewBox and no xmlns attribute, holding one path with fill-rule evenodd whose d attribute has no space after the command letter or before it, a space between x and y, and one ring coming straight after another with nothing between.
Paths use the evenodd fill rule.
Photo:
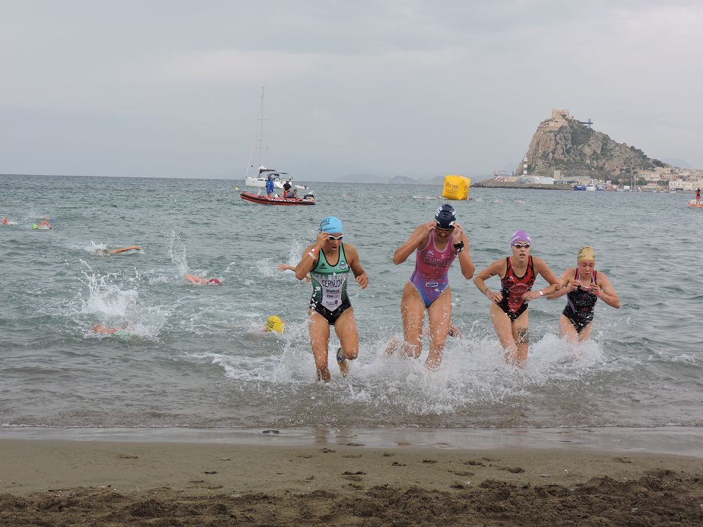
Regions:
<instances>
[{"instance_id":1,"label":"rocky hill topped by a fortress above the coastal town","mask_svg":"<svg viewBox=\"0 0 703 527\"><path fill-rule=\"evenodd\" d=\"M553 176L555 170L562 177L592 176L618 178L628 176L635 169L665 167L645 152L626 143L616 143L610 137L595 131L578 119L555 115L539 124L527 150L527 174ZM522 174L523 162L517 165L515 175Z\"/></svg>"}]
</instances>

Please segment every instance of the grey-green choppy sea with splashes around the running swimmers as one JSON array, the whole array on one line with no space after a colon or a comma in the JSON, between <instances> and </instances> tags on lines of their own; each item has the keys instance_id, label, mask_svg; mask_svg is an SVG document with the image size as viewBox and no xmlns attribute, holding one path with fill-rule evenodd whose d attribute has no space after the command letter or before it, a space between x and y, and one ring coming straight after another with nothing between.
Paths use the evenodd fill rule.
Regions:
<instances>
[{"instance_id":1,"label":"grey-green choppy sea with splashes around the running swimmers","mask_svg":"<svg viewBox=\"0 0 703 527\"><path fill-rule=\"evenodd\" d=\"M441 186L304 184L314 206L247 203L240 180L0 176L0 428L703 427L703 214L690 196L472 188L453 204L477 271L507 256L519 229L557 275L591 245L621 308L598 302L593 338L574 346L559 334L565 299L531 301L529 358L513 367L488 300L455 262L462 337L431 372L427 342L420 360L384 351L402 334L414 266L392 254L434 218ZM276 266L295 265L330 215L369 285L348 287L359 358L342 378L333 333L323 384L311 286ZM32 230L46 217L52 230ZM101 256L127 245L142 249ZM264 332L269 315L284 334ZM131 337L93 332L97 323Z\"/></svg>"}]
</instances>

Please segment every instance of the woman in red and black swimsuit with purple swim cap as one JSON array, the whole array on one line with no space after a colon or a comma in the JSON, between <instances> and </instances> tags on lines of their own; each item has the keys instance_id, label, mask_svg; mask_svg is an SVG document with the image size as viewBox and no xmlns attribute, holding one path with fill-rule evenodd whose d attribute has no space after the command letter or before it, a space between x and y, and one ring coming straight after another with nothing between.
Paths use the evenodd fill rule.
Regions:
<instances>
[{"instance_id":1,"label":"woman in red and black swimsuit with purple swim cap","mask_svg":"<svg viewBox=\"0 0 703 527\"><path fill-rule=\"evenodd\" d=\"M546 262L529 254L532 242L524 230L518 230L510 239L512 256L496 260L474 278L479 291L491 301L491 322L505 350L505 362L520 365L527 360L529 346L529 310L527 302L538 299L560 289L559 279ZM491 276L501 277L501 292L492 292L484 280ZM537 278L549 282L549 286L532 291Z\"/></svg>"}]
</instances>

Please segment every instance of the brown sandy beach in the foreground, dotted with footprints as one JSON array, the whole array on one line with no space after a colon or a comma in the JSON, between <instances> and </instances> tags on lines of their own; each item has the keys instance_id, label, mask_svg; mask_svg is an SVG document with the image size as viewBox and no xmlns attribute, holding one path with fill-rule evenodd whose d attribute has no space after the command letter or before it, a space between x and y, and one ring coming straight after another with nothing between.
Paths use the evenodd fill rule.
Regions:
<instances>
[{"instance_id":1,"label":"brown sandy beach in the foreground, dotted with footprints","mask_svg":"<svg viewBox=\"0 0 703 527\"><path fill-rule=\"evenodd\" d=\"M3 526L699 526L703 459L0 439Z\"/></svg>"}]
</instances>

